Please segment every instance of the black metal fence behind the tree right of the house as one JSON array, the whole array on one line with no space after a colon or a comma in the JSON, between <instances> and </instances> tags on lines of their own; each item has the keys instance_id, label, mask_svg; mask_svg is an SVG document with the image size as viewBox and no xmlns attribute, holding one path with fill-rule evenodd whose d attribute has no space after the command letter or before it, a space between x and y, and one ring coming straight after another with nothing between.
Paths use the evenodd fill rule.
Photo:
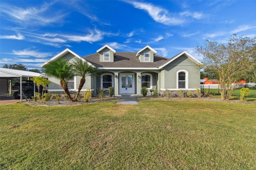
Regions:
<instances>
[{"instance_id":1,"label":"black metal fence behind the tree right of the house","mask_svg":"<svg viewBox=\"0 0 256 170\"><path fill-rule=\"evenodd\" d=\"M244 84L235 84L235 89L232 93L232 96L240 97L240 89L245 87L249 88L249 95L247 97L254 97L256 98L256 83L244 83ZM220 85L201 85L201 93L206 93L207 91L214 94L220 95Z\"/></svg>"}]
</instances>

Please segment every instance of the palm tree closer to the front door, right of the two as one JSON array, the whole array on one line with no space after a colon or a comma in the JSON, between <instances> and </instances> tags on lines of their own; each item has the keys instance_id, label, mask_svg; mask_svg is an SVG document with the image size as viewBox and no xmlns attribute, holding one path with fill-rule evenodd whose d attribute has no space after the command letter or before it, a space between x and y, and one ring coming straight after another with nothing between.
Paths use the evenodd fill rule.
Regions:
<instances>
[{"instance_id":1,"label":"palm tree closer to the front door, right of the two","mask_svg":"<svg viewBox=\"0 0 256 170\"><path fill-rule=\"evenodd\" d=\"M82 87L84 86L85 77L88 75L90 76L96 75L97 73L100 72L100 69L90 66L87 62L82 61L82 59L79 59L79 58L76 58L76 61L73 63L73 65L74 65L75 75L78 75L81 77L76 99L75 99L75 101L77 101L78 95Z\"/></svg>"}]
</instances>

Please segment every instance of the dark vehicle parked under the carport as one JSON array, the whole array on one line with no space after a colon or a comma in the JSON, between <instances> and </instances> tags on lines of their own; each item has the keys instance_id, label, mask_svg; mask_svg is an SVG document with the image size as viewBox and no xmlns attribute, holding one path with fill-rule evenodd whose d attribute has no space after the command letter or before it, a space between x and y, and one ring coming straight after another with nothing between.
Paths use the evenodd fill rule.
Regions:
<instances>
[{"instance_id":1,"label":"dark vehicle parked under the carport","mask_svg":"<svg viewBox=\"0 0 256 170\"><path fill-rule=\"evenodd\" d=\"M15 91L13 93L14 99L20 99L20 83L15 83L14 86L12 86L12 89ZM31 80L22 80L22 91L28 99L32 99L32 96L34 96L34 82ZM35 91L38 92L37 85ZM41 87L40 91L42 92Z\"/></svg>"}]
</instances>

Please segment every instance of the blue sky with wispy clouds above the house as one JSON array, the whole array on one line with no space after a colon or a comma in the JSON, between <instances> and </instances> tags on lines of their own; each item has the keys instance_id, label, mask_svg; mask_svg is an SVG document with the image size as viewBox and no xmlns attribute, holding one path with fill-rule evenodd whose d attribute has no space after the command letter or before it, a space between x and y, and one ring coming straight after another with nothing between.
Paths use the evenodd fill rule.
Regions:
<instances>
[{"instance_id":1,"label":"blue sky with wispy clouds above the house","mask_svg":"<svg viewBox=\"0 0 256 170\"><path fill-rule=\"evenodd\" d=\"M40 65L66 48L81 57L107 44L118 52L146 45L158 55L194 52L205 39L256 36L256 1L4 1L0 2L0 67Z\"/></svg>"}]
</instances>

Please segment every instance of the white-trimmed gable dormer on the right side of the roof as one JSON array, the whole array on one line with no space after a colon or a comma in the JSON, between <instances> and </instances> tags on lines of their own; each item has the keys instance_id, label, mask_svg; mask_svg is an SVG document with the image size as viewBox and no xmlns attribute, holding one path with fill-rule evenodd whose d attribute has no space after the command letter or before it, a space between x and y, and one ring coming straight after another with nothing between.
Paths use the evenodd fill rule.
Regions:
<instances>
[{"instance_id":1,"label":"white-trimmed gable dormer on the right side of the roof","mask_svg":"<svg viewBox=\"0 0 256 170\"><path fill-rule=\"evenodd\" d=\"M156 54L156 50L154 50L153 48L147 45L146 47L138 51L138 53L136 54L136 57L139 57L140 62L154 62L155 54Z\"/></svg>"}]
</instances>

